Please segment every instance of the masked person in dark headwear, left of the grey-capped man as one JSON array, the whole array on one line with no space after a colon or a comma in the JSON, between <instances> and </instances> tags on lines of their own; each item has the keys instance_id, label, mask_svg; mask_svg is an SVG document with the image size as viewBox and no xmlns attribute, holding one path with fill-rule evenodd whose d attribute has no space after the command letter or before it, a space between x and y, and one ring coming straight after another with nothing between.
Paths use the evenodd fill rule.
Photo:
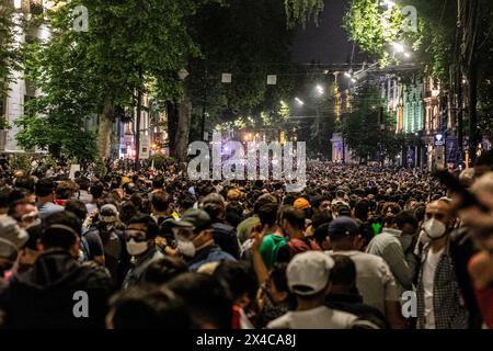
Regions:
<instances>
[{"instance_id":1,"label":"masked person in dark headwear, left of the grey-capped man","mask_svg":"<svg viewBox=\"0 0 493 351\"><path fill-rule=\"evenodd\" d=\"M154 244L158 234L159 227L151 216L137 215L130 219L125 229L125 240L128 254L131 256L131 267L123 282L123 288L138 284L149 264L164 257Z\"/></svg>"}]
</instances>

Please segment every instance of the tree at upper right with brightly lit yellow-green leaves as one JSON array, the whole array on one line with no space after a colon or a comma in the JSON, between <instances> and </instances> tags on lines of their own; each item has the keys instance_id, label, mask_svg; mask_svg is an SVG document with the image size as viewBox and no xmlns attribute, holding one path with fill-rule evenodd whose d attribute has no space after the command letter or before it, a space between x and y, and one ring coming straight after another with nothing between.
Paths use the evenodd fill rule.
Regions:
<instances>
[{"instance_id":1,"label":"tree at upper right with brightly lit yellow-green leaves","mask_svg":"<svg viewBox=\"0 0 493 351\"><path fill-rule=\"evenodd\" d=\"M352 0L345 16L349 37L364 50L374 54L383 64L393 56L392 42L400 42L408 50L413 49L413 60L423 75L439 78L448 91L450 106L457 120L459 145L467 129L470 155L475 156L480 138L478 133L478 106L491 98L484 83L491 81L493 8L490 0L428 1L408 0L406 5L417 12L416 31L405 27L401 15L402 5L380 5L378 1ZM483 88L482 88L483 87ZM466 110L462 106L466 104ZM462 127L467 114L468 127ZM481 123L481 121L479 122Z\"/></svg>"}]
</instances>

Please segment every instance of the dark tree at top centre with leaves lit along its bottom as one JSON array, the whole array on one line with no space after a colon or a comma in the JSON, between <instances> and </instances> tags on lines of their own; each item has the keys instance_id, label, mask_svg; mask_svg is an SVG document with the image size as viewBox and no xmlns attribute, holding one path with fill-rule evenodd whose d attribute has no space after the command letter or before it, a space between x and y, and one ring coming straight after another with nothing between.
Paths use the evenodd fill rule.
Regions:
<instances>
[{"instance_id":1,"label":"dark tree at top centre with leaves lit along its bottom","mask_svg":"<svg viewBox=\"0 0 493 351\"><path fill-rule=\"evenodd\" d=\"M295 69L289 49L294 32L287 29L283 0L213 3L190 26L202 52L187 67L194 120L207 112L211 126L279 126L280 101L290 97ZM221 73L231 73L232 83L221 83ZM267 75L277 75L276 86L266 84Z\"/></svg>"}]
</instances>

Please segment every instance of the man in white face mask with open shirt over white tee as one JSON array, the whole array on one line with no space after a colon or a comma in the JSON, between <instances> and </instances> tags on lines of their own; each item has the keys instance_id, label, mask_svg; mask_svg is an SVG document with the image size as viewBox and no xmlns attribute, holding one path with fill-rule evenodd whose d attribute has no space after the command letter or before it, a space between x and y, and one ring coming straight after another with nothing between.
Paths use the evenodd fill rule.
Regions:
<instances>
[{"instance_id":1,"label":"man in white face mask with open shirt over white tee","mask_svg":"<svg viewBox=\"0 0 493 351\"><path fill-rule=\"evenodd\" d=\"M417 279L419 329L468 327L468 310L463 305L449 250L454 224L450 201L440 199L426 206L423 231L429 242L423 248Z\"/></svg>"}]
</instances>

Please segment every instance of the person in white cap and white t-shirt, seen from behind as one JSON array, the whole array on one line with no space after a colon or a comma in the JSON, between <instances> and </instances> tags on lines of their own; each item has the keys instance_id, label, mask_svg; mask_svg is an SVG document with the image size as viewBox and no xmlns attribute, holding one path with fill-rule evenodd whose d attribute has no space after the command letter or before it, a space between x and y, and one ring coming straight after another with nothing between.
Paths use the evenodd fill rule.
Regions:
<instances>
[{"instance_id":1,"label":"person in white cap and white t-shirt, seen from behind","mask_svg":"<svg viewBox=\"0 0 493 351\"><path fill-rule=\"evenodd\" d=\"M288 264L289 290L298 302L296 310L274 319L268 329L351 329L355 315L324 305L330 290L330 272L334 260L326 253L309 251L297 254Z\"/></svg>"}]
</instances>

